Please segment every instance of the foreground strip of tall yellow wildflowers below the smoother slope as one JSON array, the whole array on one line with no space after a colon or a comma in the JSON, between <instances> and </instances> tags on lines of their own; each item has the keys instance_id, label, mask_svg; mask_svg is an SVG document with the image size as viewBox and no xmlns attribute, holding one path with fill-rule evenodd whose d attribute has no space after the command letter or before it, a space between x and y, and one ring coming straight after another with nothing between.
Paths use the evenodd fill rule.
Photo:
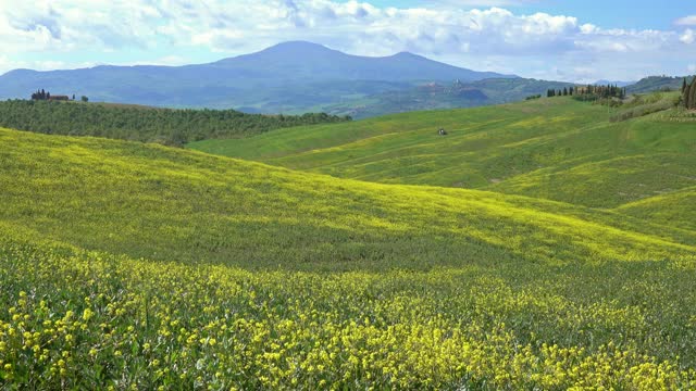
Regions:
<instances>
[{"instance_id":1,"label":"foreground strip of tall yellow wildflowers below the smoother slope","mask_svg":"<svg viewBox=\"0 0 696 391\"><path fill-rule=\"evenodd\" d=\"M0 249L9 389L696 387L693 263L252 273Z\"/></svg>"}]
</instances>

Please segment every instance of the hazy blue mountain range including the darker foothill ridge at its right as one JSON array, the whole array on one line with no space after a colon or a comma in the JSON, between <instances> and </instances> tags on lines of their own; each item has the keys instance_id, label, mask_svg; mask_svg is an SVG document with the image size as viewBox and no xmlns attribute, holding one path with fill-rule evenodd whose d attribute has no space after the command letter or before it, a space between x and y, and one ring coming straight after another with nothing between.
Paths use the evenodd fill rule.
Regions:
<instances>
[{"instance_id":1,"label":"hazy blue mountain range including the darker foothill ridge at its right","mask_svg":"<svg viewBox=\"0 0 696 391\"><path fill-rule=\"evenodd\" d=\"M370 58L290 41L208 64L15 70L0 76L0 99L27 99L45 89L113 103L362 118L506 103L571 85L476 72L409 52Z\"/></svg>"}]
</instances>

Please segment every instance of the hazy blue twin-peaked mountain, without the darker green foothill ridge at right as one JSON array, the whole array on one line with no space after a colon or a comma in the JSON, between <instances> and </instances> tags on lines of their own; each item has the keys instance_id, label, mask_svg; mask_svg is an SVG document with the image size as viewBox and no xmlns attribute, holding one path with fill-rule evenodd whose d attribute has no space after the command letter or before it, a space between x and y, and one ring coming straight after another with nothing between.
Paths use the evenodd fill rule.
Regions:
<instances>
[{"instance_id":1,"label":"hazy blue twin-peaked mountain, without the darker green foothill ridge at right","mask_svg":"<svg viewBox=\"0 0 696 391\"><path fill-rule=\"evenodd\" d=\"M210 64L16 70L0 76L0 99L28 98L44 88L54 94L85 94L91 101L291 114L423 81L490 77L515 76L460 68L411 53L368 58L296 41Z\"/></svg>"}]
</instances>

